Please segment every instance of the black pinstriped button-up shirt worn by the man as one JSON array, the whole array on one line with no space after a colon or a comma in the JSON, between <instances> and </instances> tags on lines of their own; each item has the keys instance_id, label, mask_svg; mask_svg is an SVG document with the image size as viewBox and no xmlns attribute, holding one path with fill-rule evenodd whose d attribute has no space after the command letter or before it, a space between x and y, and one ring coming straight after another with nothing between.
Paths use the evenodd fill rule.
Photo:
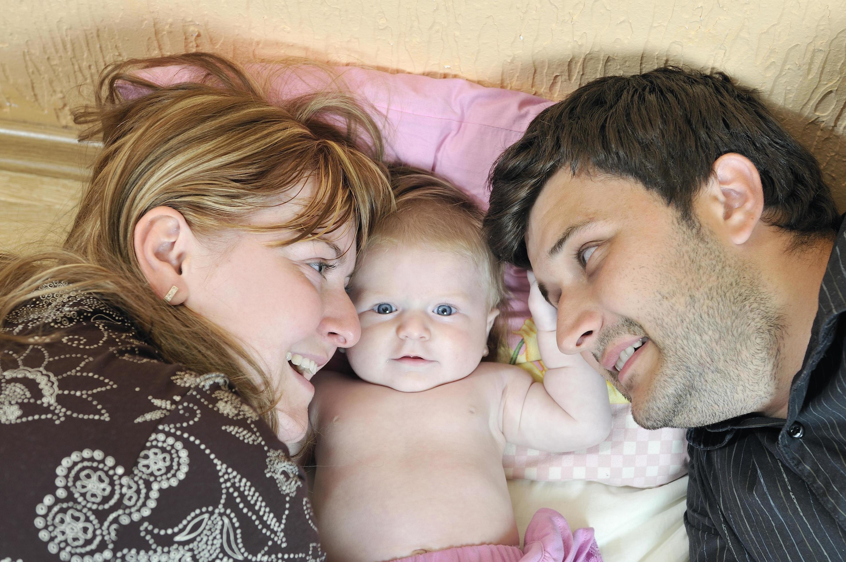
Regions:
<instances>
[{"instance_id":1,"label":"black pinstriped button-up shirt worn by the man","mask_svg":"<svg viewBox=\"0 0 846 562\"><path fill-rule=\"evenodd\" d=\"M688 431L692 561L846 560L844 311L846 222L787 420L750 414Z\"/></svg>"}]
</instances>

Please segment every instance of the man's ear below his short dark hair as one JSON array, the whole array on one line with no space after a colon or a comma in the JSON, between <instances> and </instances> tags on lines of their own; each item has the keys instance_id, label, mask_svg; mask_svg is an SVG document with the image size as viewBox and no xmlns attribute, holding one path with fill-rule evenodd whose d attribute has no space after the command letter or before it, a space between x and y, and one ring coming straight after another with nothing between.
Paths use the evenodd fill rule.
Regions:
<instances>
[{"instance_id":1,"label":"man's ear below his short dark hair","mask_svg":"<svg viewBox=\"0 0 846 562\"><path fill-rule=\"evenodd\" d=\"M749 240L764 212L761 176L749 158L735 152L717 158L702 196L700 211L710 213L729 240L737 245Z\"/></svg>"}]
</instances>

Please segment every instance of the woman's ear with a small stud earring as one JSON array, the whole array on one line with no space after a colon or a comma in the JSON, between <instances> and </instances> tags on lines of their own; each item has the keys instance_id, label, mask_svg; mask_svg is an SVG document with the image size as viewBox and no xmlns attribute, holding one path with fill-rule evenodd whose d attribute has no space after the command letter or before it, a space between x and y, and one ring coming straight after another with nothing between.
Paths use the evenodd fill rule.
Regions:
<instances>
[{"instance_id":1,"label":"woman's ear with a small stud earring","mask_svg":"<svg viewBox=\"0 0 846 562\"><path fill-rule=\"evenodd\" d=\"M164 298L176 287L169 303L184 303L189 295L184 268L195 239L182 213L170 207L152 208L135 224L133 242L135 259L153 291Z\"/></svg>"}]
</instances>

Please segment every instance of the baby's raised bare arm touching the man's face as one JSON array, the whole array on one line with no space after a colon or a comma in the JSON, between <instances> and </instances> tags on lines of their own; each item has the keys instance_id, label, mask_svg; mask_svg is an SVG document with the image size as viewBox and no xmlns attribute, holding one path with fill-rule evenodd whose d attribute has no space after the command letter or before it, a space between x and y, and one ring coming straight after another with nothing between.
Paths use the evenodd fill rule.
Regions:
<instances>
[{"instance_id":1,"label":"baby's raised bare arm touching the man's face","mask_svg":"<svg viewBox=\"0 0 846 562\"><path fill-rule=\"evenodd\" d=\"M558 350L556 310L530 273L529 309L537 327L543 383L528 373L508 377L502 427L509 443L563 453L596 445L611 431L611 406L603 379L581 355Z\"/></svg>"}]
</instances>

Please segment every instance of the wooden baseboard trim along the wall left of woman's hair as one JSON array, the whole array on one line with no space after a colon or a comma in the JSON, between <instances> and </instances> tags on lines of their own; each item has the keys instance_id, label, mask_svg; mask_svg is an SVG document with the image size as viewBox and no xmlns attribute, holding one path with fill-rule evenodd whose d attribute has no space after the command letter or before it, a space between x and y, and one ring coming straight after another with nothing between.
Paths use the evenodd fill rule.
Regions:
<instances>
[{"instance_id":1,"label":"wooden baseboard trim along the wall left of woman's hair","mask_svg":"<svg viewBox=\"0 0 846 562\"><path fill-rule=\"evenodd\" d=\"M85 180L100 147L74 131L0 121L0 169L9 172Z\"/></svg>"}]
</instances>

